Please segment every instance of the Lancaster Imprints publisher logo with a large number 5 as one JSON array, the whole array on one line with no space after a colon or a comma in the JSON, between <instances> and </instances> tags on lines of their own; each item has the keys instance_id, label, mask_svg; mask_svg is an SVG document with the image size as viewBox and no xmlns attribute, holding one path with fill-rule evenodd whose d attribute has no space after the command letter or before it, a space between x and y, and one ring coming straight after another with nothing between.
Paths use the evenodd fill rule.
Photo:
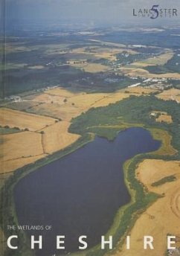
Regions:
<instances>
[{"instance_id":1,"label":"Lancaster Imprints publisher logo with a large number 5","mask_svg":"<svg viewBox=\"0 0 180 256\"><path fill-rule=\"evenodd\" d=\"M152 5L151 8L139 8L132 10L133 16L158 19L158 18L173 18L178 16L176 8L162 8L159 4Z\"/></svg>"}]
</instances>

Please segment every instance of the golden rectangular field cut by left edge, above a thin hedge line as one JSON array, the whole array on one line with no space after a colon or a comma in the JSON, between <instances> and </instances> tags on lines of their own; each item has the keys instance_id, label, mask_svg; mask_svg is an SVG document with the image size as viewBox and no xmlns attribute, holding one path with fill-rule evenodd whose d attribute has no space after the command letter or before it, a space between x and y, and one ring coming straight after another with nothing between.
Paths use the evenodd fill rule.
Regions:
<instances>
[{"instance_id":1,"label":"golden rectangular field cut by left edge, above a thin hedge line","mask_svg":"<svg viewBox=\"0 0 180 256\"><path fill-rule=\"evenodd\" d=\"M0 135L1 158L4 161L43 154L42 134L37 132L17 132Z\"/></svg>"}]
</instances>

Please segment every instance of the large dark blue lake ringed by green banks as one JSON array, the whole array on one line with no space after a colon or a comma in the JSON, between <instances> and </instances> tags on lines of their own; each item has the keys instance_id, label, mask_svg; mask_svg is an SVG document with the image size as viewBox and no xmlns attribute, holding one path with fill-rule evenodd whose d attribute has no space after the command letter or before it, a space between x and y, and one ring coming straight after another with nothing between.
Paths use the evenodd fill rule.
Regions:
<instances>
[{"instance_id":1,"label":"large dark blue lake ringed by green banks","mask_svg":"<svg viewBox=\"0 0 180 256\"><path fill-rule=\"evenodd\" d=\"M150 132L130 128L115 141L94 141L21 179L14 189L19 224L52 225L52 231L28 231L43 235L43 249L36 255L56 252L56 235L65 235L65 252L78 249L78 237L87 235L89 247L100 242L120 206L130 200L123 180L123 163L157 150ZM59 251L60 253L60 251Z\"/></svg>"}]
</instances>

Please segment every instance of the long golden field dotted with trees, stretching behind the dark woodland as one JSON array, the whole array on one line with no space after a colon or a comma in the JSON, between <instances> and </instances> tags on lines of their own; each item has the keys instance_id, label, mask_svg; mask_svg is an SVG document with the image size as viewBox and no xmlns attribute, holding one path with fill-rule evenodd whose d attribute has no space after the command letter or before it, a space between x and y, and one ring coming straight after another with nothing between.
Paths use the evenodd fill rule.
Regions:
<instances>
[{"instance_id":1,"label":"long golden field dotted with trees, stretching behind the dark woodland","mask_svg":"<svg viewBox=\"0 0 180 256\"><path fill-rule=\"evenodd\" d=\"M63 121L70 121L71 118L80 115L91 107L107 106L109 103L115 103L130 95L149 94L150 92L156 91L157 90L155 89L147 89L137 86L134 88L120 89L113 93L88 94L84 92L68 92L59 87L56 89L49 89L42 94L31 95L31 100L23 101L21 107L30 106L30 103L32 103L31 107L27 109L30 113L38 116L45 115L51 118L60 118ZM35 102L36 104L33 105ZM19 106L18 104L19 103L13 103L13 107L16 107L16 105Z\"/></svg>"}]
</instances>

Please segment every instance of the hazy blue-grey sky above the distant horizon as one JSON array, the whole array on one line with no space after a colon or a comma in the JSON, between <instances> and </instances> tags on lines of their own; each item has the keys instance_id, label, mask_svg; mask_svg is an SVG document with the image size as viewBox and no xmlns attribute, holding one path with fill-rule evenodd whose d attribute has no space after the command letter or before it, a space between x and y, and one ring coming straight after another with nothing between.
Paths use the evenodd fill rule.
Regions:
<instances>
[{"instance_id":1,"label":"hazy blue-grey sky above the distant horizon","mask_svg":"<svg viewBox=\"0 0 180 256\"><path fill-rule=\"evenodd\" d=\"M29 19L69 22L94 22L94 25L180 25L180 0L5 0L7 19ZM179 16L163 19L140 19L132 16L132 9L151 8L159 4L161 8L177 8Z\"/></svg>"}]
</instances>

